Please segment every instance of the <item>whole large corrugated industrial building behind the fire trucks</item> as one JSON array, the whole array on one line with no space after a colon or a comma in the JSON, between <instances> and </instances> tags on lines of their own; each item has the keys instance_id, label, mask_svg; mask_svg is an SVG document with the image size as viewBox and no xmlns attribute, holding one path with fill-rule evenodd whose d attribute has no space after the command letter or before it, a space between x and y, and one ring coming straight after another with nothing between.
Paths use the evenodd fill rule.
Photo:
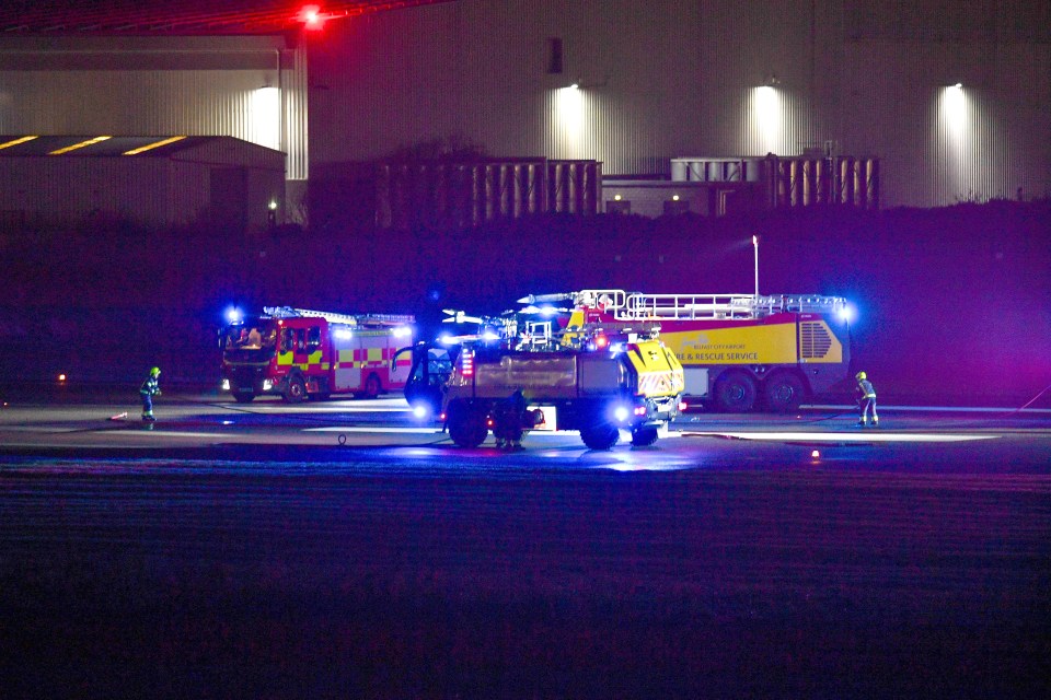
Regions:
<instances>
[{"instance_id":1,"label":"whole large corrugated industrial building behind the fire trucks","mask_svg":"<svg viewBox=\"0 0 1051 700\"><path fill-rule=\"evenodd\" d=\"M280 151L278 221L355 207L380 225L448 219L391 210L424 206L389 188L406 162L591 163L601 180L584 213L1048 197L1049 105L1042 0L0 10L0 133L222 136ZM475 212L540 201L472 191ZM351 192L373 201L333 201Z\"/></svg>"}]
</instances>

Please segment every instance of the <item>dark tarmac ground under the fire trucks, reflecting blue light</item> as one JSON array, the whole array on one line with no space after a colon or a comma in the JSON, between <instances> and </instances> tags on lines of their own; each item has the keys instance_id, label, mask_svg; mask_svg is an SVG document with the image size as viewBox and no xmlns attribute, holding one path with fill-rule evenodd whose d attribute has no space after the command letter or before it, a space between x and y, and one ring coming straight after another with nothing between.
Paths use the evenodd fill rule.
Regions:
<instances>
[{"instance_id":1,"label":"dark tarmac ground under the fire trucks, reflecting blue light","mask_svg":"<svg viewBox=\"0 0 1051 700\"><path fill-rule=\"evenodd\" d=\"M137 410L0 410L4 698L1051 693L1047 412L506 453L395 399Z\"/></svg>"}]
</instances>

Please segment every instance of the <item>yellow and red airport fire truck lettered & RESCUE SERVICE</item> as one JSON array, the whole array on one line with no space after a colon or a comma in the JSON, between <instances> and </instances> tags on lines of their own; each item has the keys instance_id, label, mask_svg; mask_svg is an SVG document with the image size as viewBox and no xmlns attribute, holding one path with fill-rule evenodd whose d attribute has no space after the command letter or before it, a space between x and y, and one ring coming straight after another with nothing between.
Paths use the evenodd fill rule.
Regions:
<instances>
[{"instance_id":1,"label":"yellow and red airport fire truck lettered & RESCUE SERVICE","mask_svg":"<svg viewBox=\"0 0 1051 700\"><path fill-rule=\"evenodd\" d=\"M848 306L841 296L584 290L519 302L561 305L567 337L586 326L658 329L682 363L688 405L792 411L850 375Z\"/></svg>"}]
</instances>

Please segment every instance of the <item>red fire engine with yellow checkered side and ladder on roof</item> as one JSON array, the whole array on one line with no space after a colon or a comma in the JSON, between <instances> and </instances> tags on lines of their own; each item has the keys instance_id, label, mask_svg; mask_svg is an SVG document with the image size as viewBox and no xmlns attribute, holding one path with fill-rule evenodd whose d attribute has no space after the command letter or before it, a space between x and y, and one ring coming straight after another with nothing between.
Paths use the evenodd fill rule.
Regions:
<instances>
[{"instance_id":1,"label":"red fire engine with yellow checkered side and ladder on roof","mask_svg":"<svg viewBox=\"0 0 1051 700\"><path fill-rule=\"evenodd\" d=\"M220 337L222 388L238 401L277 394L290 404L333 394L374 398L401 389L415 317L391 314L264 307L261 316L227 326Z\"/></svg>"}]
</instances>

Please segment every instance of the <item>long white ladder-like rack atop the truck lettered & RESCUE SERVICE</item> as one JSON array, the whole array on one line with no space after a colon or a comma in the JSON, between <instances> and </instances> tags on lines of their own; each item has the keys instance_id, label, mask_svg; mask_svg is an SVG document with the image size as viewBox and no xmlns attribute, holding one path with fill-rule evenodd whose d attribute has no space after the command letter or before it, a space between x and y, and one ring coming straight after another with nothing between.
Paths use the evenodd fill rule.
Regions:
<instances>
[{"instance_id":1,"label":"long white ladder-like rack atop the truck lettered & RESCUE SERVICE","mask_svg":"<svg viewBox=\"0 0 1051 700\"><path fill-rule=\"evenodd\" d=\"M550 295L555 296L555 295ZM623 290L582 290L566 295L582 308L597 308L617 320L708 320L762 318L793 312L841 313L842 296L817 294L646 294Z\"/></svg>"}]
</instances>

